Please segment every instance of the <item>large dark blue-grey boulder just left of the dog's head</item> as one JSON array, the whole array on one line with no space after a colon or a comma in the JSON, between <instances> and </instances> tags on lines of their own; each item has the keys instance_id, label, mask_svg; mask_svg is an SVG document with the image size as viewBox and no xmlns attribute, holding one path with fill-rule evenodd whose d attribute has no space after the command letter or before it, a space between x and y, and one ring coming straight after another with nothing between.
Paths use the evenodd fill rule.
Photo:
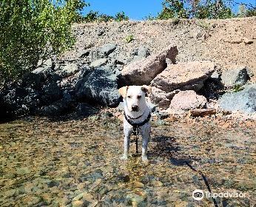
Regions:
<instances>
[{"instance_id":1,"label":"large dark blue-grey boulder just left of the dog's head","mask_svg":"<svg viewBox=\"0 0 256 207\"><path fill-rule=\"evenodd\" d=\"M75 86L80 99L95 104L118 106L120 95L116 75L107 68L97 68Z\"/></svg>"}]
</instances>

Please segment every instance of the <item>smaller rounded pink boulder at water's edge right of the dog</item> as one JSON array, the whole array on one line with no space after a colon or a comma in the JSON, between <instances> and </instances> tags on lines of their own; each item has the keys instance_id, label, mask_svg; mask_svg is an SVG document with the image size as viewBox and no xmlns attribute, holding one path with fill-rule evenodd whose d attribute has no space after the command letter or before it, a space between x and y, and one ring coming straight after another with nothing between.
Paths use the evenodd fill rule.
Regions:
<instances>
[{"instance_id":1,"label":"smaller rounded pink boulder at water's edge right of the dog","mask_svg":"<svg viewBox=\"0 0 256 207\"><path fill-rule=\"evenodd\" d=\"M199 109L206 106L207 100L195 91L187 90L178 92L171 101L170 108L175 110Z\"/></svg>"}]
</instances>

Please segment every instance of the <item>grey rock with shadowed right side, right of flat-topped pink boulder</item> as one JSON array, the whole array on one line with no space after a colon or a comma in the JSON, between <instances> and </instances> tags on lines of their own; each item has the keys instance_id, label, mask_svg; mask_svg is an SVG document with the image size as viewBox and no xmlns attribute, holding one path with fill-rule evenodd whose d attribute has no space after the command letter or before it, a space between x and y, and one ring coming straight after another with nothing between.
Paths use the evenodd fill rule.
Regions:
<instances>
[{"instance_id":1,"label":"grey rock with shadowed right side, right of flat-topped pink boulder","mask_svg":"<svg viewBox=\"0 0 256 207\"><path fill-rule=\"evenodd\" d=\"M224 71L221 75L221 80L224 86L232 87L236 85L244 85L248 81L248 74L246 67L239 67Z\"/></svg>"}]
</instances>

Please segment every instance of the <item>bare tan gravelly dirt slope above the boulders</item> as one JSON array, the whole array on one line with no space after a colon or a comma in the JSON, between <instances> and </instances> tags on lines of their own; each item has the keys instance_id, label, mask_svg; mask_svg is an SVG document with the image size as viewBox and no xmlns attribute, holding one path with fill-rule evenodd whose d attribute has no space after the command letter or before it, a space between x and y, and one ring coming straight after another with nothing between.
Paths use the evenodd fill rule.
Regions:
<instances>
[{"instance_id":1,"label":"bare tan gravelly dirt slope above the boulders","mask_svg":"<svg viewBox=\"0 0 256 207\"><path fill-rule=\"evenodd\" d=\"M175 44L177 61L212 60L219 69L246 65L256 74L256 17L75 24L74 31L77 42L64 59L74 60L79 51L95 50L107 43L118 44L115 52L127 57L142 45L153 54ZM133 35L134 41L127 43L128 35Z\"/></svg>"}]
</instances>

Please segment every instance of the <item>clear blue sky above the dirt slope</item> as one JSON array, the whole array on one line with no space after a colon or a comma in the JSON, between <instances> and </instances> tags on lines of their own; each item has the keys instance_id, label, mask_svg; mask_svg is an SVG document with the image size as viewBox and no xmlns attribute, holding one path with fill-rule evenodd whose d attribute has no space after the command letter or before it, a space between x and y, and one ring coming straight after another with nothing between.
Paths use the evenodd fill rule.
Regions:
<instances>
[{"instance_id":1,"label":"clear blue sky above the dirt slope","mask_svg":"<svg viewBox=\"0 0 256 207\"><path fill-rule=\"evenodd\" d=\"M98 11L110 16L115 16L116 13L124 11L132 20L141 20L151 14L157 16L161 12L161 0L86 0L90 3L90 7L86 7L83 13L88 13L90 10ZM238 3L252 4L256 6L256 0L235 0ZM233 12L238 11L238 4L232 7Z\"/></svg>"}]
</instances>

